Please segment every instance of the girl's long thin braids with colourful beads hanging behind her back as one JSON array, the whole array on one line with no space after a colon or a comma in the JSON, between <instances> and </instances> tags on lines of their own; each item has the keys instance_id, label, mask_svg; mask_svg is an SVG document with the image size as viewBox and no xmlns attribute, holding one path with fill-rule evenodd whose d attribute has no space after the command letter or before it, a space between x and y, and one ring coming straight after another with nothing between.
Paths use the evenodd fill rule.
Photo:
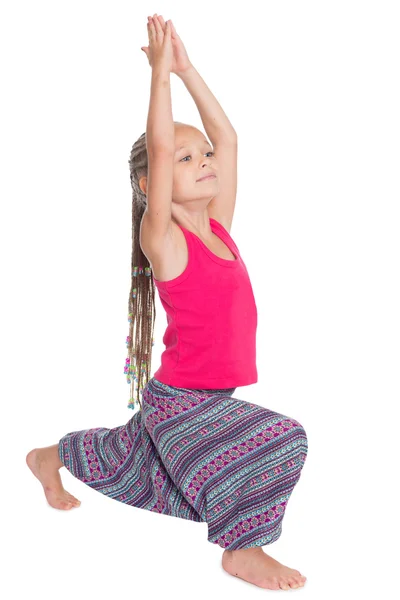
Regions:
<instances>
[{"instance_id":1,"label":"girl's long thin braids with colourful beads hanging behind her back","mask_svg":"<svg viewBox=\"0 0 400 600\"><path fill-rule=\"evenodd\" d=\"M140 224L147 207L146 195L139 186L142 176L147 176L148 157L146 134L134 143L129 158L132 185L132 257L131 290L128 302L129 335L126 338L128 358L124 373L131 385L128 408L138 405L140 397L150 379L152 347L154 345L154 321L156 317L155 288L150 263L140 247ZM135 333L133 333L135 329ZM136 397L135 394L136 385Z\"/></svg>"}]
</instances>

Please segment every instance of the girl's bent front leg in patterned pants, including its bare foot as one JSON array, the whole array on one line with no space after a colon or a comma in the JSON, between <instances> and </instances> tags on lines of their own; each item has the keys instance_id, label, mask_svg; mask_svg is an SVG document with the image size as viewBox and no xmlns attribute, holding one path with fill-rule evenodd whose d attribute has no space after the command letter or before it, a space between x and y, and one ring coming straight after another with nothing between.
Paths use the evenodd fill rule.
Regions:
<instances>
[{"instance_id":1,"label":"girl's bent front leg in patterned pants, including its bare foot","mask_svg":"<svg viewBox=\"0 0 400 600\"><path fill-rule=\"evenodd\" d=\"M305 577L264 553L281 535L284 512L307 454L302 425L232 396L151 382L146 428L178 488L225 551L226 572L267 589Z\"/></svg>"}]
</instances>

